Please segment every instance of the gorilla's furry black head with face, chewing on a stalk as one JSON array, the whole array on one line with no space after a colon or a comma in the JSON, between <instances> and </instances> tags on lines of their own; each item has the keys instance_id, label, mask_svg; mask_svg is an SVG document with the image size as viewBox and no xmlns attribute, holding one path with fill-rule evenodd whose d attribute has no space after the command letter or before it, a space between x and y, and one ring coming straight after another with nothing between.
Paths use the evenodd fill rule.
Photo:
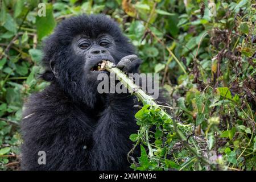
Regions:
<instances>
[{"instance_id":1,"label":"gorilla's furry black head with face, chewing on a stalk","mask_svg":"<svg viewBox=\"0 0 256 182\"><path fill-rule=\"evenodd\" d=\"M104 15L63 20L44 44L42 78L92 108L102 97L97 92L102 60L117 64L135 52L118 24Z\"/></svg>"}]
</instances>

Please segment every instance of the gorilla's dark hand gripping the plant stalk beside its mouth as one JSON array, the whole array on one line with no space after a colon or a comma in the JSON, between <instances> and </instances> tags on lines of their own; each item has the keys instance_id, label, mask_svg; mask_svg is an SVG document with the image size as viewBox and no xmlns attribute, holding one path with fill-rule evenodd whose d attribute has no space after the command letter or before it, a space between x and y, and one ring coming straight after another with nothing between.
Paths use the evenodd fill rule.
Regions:
<instances>
[{"instance_id":1,"label":"gorilla's dark hand gripping the plant stalk beside its mouth","mask_svg":"<svg viewBox=\"0 0 256 182\"><path fill-rule=\"evenodd\" d=\"M117 68L123 70L126 73L138 73L141 60L136 55L129 55L123 57L117 64Z\"/></svg>"}]
</instances>

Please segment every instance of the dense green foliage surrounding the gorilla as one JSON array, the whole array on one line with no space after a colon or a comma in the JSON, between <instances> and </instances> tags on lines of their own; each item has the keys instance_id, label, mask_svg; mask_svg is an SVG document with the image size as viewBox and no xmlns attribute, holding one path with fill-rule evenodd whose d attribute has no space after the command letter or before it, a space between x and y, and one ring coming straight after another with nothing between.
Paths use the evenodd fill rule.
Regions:
<instances>
[{"instance_id":1,"label":"dense green foliage surrounding the gorilla","mask_svg":"<svg viewBox=\"0 0 256 182\"><path fill-rule=\"evenodd\" d=\"M141 72L159 73L170 98L164 109L171 119L150 105L135 115L141 128L130 139L141 156L134 159L130 152L131 168L255 170L256 4L43 2L46 17L38 16L39 1L0 0L0 169L19 169L22 105L47 85L38 79L42 40L64 18L104 13L138 48ZM178 131L180 123L186 127Z\"/></svg>"}]
</instances>

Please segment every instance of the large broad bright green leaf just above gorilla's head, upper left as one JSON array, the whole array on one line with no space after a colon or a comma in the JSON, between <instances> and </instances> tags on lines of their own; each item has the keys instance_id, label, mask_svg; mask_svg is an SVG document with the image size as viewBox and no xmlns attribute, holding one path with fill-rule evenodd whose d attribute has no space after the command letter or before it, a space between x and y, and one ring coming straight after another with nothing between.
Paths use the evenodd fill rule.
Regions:
<instances>
[{"instance_id":1,"label":"large broad bright green leaf just above gorilla's head, upper left","mask_svg":"<svg viewBox=\"0 0 256 182\"><path fill-rule=\"evenodd\" d=\"M41 40L44 36L51 34L55 28L56 22L53 17L52 5L46 5L46 16L36 16L36 30L38 39Z\"/></svg>"}]
</instances>

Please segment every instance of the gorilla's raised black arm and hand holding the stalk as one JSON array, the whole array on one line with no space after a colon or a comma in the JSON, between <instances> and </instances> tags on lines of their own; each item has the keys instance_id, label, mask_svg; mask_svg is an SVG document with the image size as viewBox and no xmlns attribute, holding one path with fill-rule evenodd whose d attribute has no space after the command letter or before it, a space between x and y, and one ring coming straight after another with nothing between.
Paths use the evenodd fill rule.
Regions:
<instances>
[{"instance_id":1,"label":"gorilla's raised black arm and hand holding the stalk","mask_svg":"<svg viewBox=\"0 0 256 182\"><path fill-rule=\"evenodd\" d=\"M141 60L136 55L123 57L117 67L126 73L138 72ZM106 106L93 133L93 168L100 170L129 169L127 154L132 148L130 134L138 126L134 118L136 98L130 94L108 94ZM125 161L126 163L123 163Z\"/></svg>"}]
</instances>

